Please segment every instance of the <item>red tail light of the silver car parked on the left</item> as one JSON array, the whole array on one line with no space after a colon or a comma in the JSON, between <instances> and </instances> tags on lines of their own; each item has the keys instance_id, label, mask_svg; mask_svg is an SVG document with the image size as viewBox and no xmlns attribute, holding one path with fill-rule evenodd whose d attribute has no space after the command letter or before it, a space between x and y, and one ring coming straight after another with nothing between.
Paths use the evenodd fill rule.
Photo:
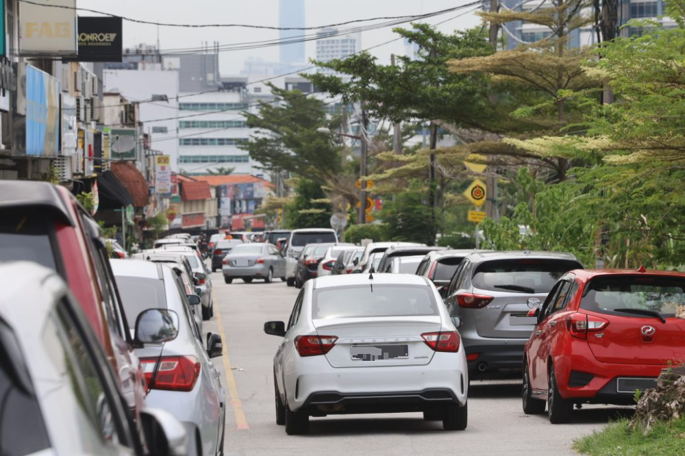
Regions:
<instances>
[{"instance_id":1,"label":"red tail light of the silver car parked on the left","mask_svg":"<svg viewBox=\"0 0 685 456\"><path fill-rule=\"evenodd\" d=\"M158 362L157 376L153 379ZM140 358L140 365L150 390L191 391L200 375L200 363L194 356Z\"/></svg>"}]
</instances>

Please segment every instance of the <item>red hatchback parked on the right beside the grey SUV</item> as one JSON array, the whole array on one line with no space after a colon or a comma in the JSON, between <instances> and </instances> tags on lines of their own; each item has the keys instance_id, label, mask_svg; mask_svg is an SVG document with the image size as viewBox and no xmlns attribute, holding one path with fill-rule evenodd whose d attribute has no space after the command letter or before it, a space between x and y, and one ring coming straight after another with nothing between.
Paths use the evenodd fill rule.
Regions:
<instances>
[{"instance_id":1,"label":"red hatchback parked on the right beside the grey SUV","mask_svg":"<svg viewBox=\"0 0 685 456\"><path fill-rule=\"evenodd\" d=\"M530 312L523 411L571 421L574 404L634 404L669 365L685 361L685 274L572 270Z\"/></svg>"}]
</instances>

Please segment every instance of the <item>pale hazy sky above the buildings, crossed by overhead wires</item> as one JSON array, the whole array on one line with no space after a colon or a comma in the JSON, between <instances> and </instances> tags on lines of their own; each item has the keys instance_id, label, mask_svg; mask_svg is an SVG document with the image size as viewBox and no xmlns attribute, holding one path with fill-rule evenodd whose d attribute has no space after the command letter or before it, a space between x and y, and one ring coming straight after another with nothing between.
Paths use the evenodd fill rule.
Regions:
<instances>
[{"instance_id":1,"label":"pale hazy sky above the buildings, crossed by overhead wires","mask_svg":"<svg viewBox=\"0 0 685 456\"><path fill-rule=\"evenodd\" d=\"M245 23L253 25L278 26L278 0L78 0L79 8L90 8L112 14L147 21L168 23ZM360 18L377 16L405 16L453 8L460 4L471 3L471 0L306 0L306 26L327 25ZM471 8L469 8L471 10ZM477 16L468 10L458 10L428 18L427 23L438 23L458 14L439 25L440 31L466 29L479 25ZM466 14L464 14L466 12ZM79 12L81 16L95 15ZM392 27L365 31L362 34L362 49L391 40ZM309 32L311 33L311 32ZM155 44L158 27L155 25L123 23L124 47L133 47L138 43ZM159 27L160 47L179 49L200 47L202 42L219 41L220 45L235 42L273 40L278 38L278 31L244 28L203 28L188 29L178 27ZM314 42L306 43L307 56L314 55ZM403 53L401 40L383 47L373 49L381 62L389 62L390 53ZM277 61L278 47L251 49L248 51L222 52L220 57L221 72L224 75L239 73L242 62L249 58L263 58Z\"/></svg>"}]
</instances>

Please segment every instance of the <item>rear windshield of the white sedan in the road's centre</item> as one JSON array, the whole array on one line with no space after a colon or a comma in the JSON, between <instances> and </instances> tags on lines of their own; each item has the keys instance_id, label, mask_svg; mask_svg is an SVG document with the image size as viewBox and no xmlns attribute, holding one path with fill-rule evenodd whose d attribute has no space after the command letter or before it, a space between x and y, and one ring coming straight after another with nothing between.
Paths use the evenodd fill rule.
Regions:
<instances>
[{"instance_id":1,"label":"rear windshield of the white sedan in the road's centre","mask_svg":"<svg viewBox=\"0 0 685 456\"><path fill-rule=\"evenodd\" d=\"M425 286L373 285L314 290L312 318L438 315Z\"/></svg>"}]
</instances>

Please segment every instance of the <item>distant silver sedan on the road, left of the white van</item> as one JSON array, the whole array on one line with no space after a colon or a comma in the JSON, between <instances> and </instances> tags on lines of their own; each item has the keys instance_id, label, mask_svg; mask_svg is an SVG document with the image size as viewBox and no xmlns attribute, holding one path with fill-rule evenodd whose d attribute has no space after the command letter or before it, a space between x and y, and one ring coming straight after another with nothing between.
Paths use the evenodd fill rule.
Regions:
<instances>
[{"instance_id":1,"label":"distant silver sedan on the road, left of the white van","mask_svg":"<svg viewBox=\"0 0 685 456\"><path fill-rule=\"evenodd\" d=\"M223 257L221 272L225 283L232 283L233 279L242 279L245 283L264 279L264 283L271 283L274 277L285 281L286 259L275 245L251 242L236 245Z\"/></svg>"}]
</instances>

